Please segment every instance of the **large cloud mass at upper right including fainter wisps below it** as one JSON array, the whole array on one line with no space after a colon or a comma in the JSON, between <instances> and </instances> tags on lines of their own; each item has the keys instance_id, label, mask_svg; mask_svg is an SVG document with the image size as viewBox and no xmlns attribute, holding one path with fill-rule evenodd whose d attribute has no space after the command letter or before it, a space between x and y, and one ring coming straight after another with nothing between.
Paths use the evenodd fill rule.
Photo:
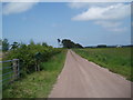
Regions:
<instances>
[{"instance_id":1,"label":"large cloud mass at upper right including fainter wisps below it","mask_svg":"<svg viewBox=\"0 0 133 100\"><path fill-rule=\"evenodd\" d=\"M123 32L122 20L131 14L131 6L124 3L84 3L71 4L71 8L88 8L86 11L72 18L73 21L93 21L109 31Z\"/></svg>"}]
</instances>

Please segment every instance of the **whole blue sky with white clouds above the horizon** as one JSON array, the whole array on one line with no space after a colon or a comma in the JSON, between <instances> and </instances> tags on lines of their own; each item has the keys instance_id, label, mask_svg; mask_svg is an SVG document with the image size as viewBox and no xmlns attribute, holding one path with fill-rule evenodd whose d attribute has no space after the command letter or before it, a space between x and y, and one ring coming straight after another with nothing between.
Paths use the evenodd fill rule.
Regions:
<instances>
[{"instance_id":1,"label":"whole blue sky with white clouds above the horizon","mask_svg":"<svg viewBox=\"0 0 133 100\"><path fill-rule=\"evenodd\" d=\"M4 2L2 37L11 43L32 39L53 47L58 47L57 39L71 39L84 47L131 44L131 4Z\"/></svg>"}]
</instances>

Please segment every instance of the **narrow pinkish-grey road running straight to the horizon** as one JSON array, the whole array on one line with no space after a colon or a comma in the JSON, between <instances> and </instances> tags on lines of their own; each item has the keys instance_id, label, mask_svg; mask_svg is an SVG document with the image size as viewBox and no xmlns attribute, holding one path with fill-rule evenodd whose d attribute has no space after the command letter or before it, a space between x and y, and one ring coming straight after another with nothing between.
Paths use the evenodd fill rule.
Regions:
<instances>
[{"instance_id":1,"label":"narrow pinkish-grey road running straight to the horizon","mask_svg":"<svg viewBox=\"0 0 133 100\"><path fill-rule=\"evenodd\" d=\"M131 98L131 82L69 50L49 98Z\"/></svg>"}]
</instances>

